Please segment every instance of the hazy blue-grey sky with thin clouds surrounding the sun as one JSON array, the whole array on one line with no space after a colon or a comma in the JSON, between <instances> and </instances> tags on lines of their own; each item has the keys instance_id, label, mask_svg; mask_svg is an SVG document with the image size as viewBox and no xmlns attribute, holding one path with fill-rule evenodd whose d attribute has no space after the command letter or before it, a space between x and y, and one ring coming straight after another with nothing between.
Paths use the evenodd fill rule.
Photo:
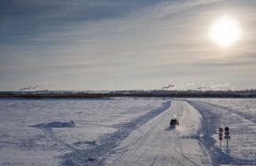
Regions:
<instances>
[{"instance_id":1,"label":"hazy blue-grey sky with thin clouds surrounding the sun","mask_svg":"<svg viewBox=\"0 0 256 166\"><path fill-rule=\"evenodd\" d=\"M254 0L2 0L0 90L256 89L255 8ZM211 38L222 17L239 29L229 46Z\"/></svg>"}]
</instances>

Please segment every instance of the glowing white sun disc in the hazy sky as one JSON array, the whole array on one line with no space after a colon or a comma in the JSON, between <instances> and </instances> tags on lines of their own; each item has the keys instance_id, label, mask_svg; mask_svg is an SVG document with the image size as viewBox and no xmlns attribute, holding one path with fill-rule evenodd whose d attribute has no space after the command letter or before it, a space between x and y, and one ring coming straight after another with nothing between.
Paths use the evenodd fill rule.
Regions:
<instances>
[{"instance_id":1,"label":"glowing white sun disc in the hazy sky","mask_svg":"<svg viewBox=\"0 0 256 166\"><path fill-rule=\"evenodd\" d=\"M221 17L210 28L210 38L223 47L231 46L241 35L239 25L232 17Z\"/></svg>"}]
</instances>

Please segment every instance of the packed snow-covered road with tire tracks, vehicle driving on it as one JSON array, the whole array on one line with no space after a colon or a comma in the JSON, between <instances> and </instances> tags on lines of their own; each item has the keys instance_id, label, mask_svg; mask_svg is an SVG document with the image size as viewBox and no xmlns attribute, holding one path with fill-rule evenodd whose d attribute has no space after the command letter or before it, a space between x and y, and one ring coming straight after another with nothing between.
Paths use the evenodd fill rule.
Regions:
<instances>
[{"instance_id":1,"label":"packed snow-covered road with tire tracks, vehicle driving on it","mask_svg":"<svg viewBox=\"0 0 256 166\"><path fill-rule=\"evenodd\" d=\"M176 117L180 126L170 127ZM184 101L137 128L109 153L106 165L207 165L210 159L198 141L202 116Z\"/></svg>"}]
</instances>

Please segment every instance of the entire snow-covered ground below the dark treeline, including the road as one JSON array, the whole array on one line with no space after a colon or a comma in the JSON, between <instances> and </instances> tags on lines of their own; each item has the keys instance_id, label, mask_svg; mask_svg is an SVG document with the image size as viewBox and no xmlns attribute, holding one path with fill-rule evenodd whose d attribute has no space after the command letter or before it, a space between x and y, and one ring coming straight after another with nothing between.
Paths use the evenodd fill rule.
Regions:
<instances>
[{"instance_id":1,"label":"entire snow-covered ground below the dark treeline, including the road","mask_svg":"<svg viewBox=\"0 0 256 166\"><path fill-rule=\"evenodd\" d=\"M255 103L0 99L0 165L256 165ZM228 149L217 131L227 126Z\"/></svg>"}]
</instances>

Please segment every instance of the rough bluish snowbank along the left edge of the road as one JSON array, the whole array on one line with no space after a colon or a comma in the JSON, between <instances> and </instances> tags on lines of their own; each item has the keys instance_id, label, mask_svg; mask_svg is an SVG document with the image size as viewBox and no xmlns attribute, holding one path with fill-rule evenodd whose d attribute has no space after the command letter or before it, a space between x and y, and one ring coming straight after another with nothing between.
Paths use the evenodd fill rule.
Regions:
<instances>
[{"instance_id":1,"label":"rough bluish snowbank along the left edge of the road","mask_svg":"<svg viewBox=\"0 0 256 166\"><path fill-rule=\"evenodd\" d=\"M169 109L171 101L165 101L157 109L152 109L149 113L139 116L135 120L132 120L128 123L122 124L121 132L109 133L102 135L102 138L99 138L99 142L102 144L97 144L97 146L91 149L83 149L80 151L73 151L72 153L65 154L62 158L63 165L102 165L102 162L106 159L107 154L117 147L117 145L127 138L129 134L132 133L135 129L138 129L139 126L147 123L148 120L154 116L158 116L160 113L163 113L166 109ZM127 148L119 148L122 153L125 153ZM114 153L112 151L112 153ZM81 155L83 157L80 157ZM78 157L79 156L79 157ZM91 160L92 159L92 160ZM80 163L80 164L77 164Z\"/></svg>"}]
</instances>

